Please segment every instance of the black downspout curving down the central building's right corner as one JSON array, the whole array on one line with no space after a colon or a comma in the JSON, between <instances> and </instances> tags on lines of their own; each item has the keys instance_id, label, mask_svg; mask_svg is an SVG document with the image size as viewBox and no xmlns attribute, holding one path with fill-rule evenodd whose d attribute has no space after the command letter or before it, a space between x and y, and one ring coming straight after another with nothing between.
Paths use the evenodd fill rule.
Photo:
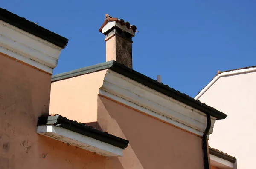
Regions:
<instances>
[{"instance_id":1,"label":"black downspout curving down the central building's right corner","mask_svg":"<svg viewBox=\"0 0 256 169\"><path fill-rule=\"evenodd\" d=\"M209 158L208 158L208 146L207 146L207 135L211 129L211 115L209 113L206 114L207 125L204 130L202 146L203 146L203 155L204 155L204 169L209 168Z\"/></svg>"}]
</instances>

